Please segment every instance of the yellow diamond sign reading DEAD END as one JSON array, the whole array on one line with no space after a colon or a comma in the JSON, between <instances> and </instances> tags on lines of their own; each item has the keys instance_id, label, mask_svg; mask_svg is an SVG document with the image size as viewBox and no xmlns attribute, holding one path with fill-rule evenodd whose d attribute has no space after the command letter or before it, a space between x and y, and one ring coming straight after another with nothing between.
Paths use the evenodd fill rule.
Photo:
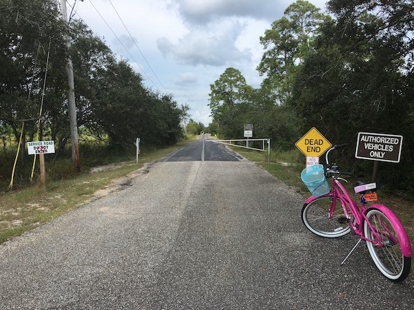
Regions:
<instances>
[{"instance_id":1,"label":"yellow diamond sign reading DEAD END","mask_svg":"<svg viewBox=\"0 0 414 310\"><path fill-rule=\"evenodd\" d=\"M295 143L296 147L302 151L305 156L321 156L332 145L326 140L315 127L312 127L302 138Z\"/></svg>"}]
</instances>

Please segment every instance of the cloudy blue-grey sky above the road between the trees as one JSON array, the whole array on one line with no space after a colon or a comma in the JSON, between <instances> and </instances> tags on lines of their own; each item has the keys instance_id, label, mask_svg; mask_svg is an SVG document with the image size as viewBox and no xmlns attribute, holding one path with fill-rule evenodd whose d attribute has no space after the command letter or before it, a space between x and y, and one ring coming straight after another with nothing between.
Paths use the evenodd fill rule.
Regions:
<instances>
[{"instance_id":1,"label":"cloudy blue-grey sky above the road between the trees","mask_svg":"<svg viewBox=\"0 0 414 310\"><path fill-rule=\"evenodd\" d=\"M325 12L327 0L308 0ZM246 83L262 83L256 68L259 38L293 0L67 0L118 59L141 74L144 85L190 107L190 118L208 126L208 100L226 68ZM73 10L72 10L73 8Z\"/></svg>"}]
</instances>

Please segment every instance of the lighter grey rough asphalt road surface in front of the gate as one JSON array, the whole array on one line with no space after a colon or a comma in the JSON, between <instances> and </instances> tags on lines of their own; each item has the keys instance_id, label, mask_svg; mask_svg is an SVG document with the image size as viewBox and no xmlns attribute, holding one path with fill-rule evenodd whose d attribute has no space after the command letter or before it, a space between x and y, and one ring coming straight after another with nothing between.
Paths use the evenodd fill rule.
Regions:
<instances>
[{"instance_id":1,"label":"lighter grey rough asphalt road surface in front of the gate","mask_svg":"<svg viewBox=\"0 0 414 310\"><path fill-rule=\"evenodd\" d=\"M1 245L0 309L413 309L365 245L340 265L356 238L307 231L295 189L175 155Z\"/></svg>"}]
</instances>

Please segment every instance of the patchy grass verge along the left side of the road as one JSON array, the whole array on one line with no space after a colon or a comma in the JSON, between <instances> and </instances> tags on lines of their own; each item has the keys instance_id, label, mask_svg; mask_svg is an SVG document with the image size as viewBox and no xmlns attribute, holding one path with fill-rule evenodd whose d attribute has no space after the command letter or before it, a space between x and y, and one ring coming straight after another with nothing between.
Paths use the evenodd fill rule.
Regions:
<instances>
[{"instance_id":1,"label":"patchy grass verge along the left side of the road","mask_svg":"<svg viewBox=\"0 0 414 310\"><path fill-rule=\"evenodd\" d=\"M128 161L111 165L111 169L84 172L66 180L46 180L46 188L33 185L13 192L0 194L0 243L26 231L39 227L53 218L80 207L106 189L114 180L127 176L183 147L195 137L181 141L172 147L152 149L139 155L139 163L133 156Z\"/></svg>"}]
</instances>

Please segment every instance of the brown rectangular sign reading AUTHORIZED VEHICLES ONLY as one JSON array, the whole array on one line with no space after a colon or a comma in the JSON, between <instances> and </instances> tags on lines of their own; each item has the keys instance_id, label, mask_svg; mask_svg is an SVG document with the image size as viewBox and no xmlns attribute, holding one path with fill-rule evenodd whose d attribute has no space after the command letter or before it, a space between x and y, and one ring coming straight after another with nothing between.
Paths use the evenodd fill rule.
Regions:
<instances>
[{"instance_id":1,"label":"brown rectangular sign reading AUTHORIZED VEHICLES ONLY","mask_svg":"<svg viewBox=\"0 0 414 310\"><path fill-rule=\"evenodd\" d=\"M359 132L355 157L371 161L400 163L402 136Z\"/></svg>"}]
</instances>

